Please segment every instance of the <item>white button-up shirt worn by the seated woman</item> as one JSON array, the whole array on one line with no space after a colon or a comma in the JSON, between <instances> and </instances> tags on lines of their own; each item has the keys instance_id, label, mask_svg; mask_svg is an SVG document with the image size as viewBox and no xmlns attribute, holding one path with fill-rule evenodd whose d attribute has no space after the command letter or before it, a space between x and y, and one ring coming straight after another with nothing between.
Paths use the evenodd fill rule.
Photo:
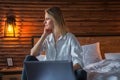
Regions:
<instances>
[{"instance_id":1,"label":"white button-up shirt worn by the seated woman","mask_svg":"<svg viewBox=\"0 0 120 80\"><path fill-rule=\"evenodd\" d=\"M46 60L71 60L73 65L82 64L82 48L72 33L61 36L55 43L53 34L51 33L43 42L42 51L46 52Z\"/></svg>"}]
</instances>

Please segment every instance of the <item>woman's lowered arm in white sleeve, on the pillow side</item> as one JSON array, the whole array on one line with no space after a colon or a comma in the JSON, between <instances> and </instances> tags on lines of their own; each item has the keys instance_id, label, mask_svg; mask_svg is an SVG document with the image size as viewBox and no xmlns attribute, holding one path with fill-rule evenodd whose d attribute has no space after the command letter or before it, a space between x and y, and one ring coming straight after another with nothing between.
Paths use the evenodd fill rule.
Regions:
<instances>
[{"instance_id":1,"label":"woman's lowered arm in white sleeve, on the pillow side","mask_svg":"<svg viewBox=\"0 0 120 80\"><path fill-rule=\"evenodd\" d=\"M73 61L74 70L80 69L83 67L82 61L82 47L74 35L71 36L71 55Z\"/></svg>"}]
</instances>

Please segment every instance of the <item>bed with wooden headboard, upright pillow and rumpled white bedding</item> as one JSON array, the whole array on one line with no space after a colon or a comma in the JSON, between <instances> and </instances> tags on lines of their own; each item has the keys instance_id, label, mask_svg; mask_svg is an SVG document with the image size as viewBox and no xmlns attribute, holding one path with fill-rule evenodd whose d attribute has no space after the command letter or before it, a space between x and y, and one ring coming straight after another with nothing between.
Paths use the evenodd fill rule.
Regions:
<instances>
[{"instance_id":1,"label":"bed with wooden headboard, upright pillow and rumpled white bedding","mask_svg":"<svg viewBox=\"0 0 120 80\"><path fill-rule=\"evenodd\" d=\"M88 73L88 80L120 80L120 73L113 71L101 72L109 68L120 71L120 61L106 59L107 53L120 53L120 35L75 35L84 49L84 69ZM32 37L32 46L37 42L40 36ZM89 50L89 51L88 51ZM89 57L86 57L88 56ZM116 63L111 64L111 63ZM101 65L101 66L100 66ZM108 66L107 66L108 65ZM111 67L109 66L111 65ZM96 68L97 66L97 68Z\"/></svg>"}]
</instances>

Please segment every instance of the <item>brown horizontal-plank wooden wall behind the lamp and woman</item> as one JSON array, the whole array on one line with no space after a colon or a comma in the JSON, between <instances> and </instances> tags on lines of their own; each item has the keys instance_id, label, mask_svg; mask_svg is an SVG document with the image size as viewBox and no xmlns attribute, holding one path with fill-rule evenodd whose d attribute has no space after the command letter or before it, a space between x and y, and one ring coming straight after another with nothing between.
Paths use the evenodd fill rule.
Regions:
<instances>
[{"instance_id":1,"label":"brown horizontal-plank wooden wall behind the lamp and woman","mask_svg":"<svg viewBox=\"0 0 120 80\"><path fill-rule=\"evenodd\" d=\"M30 53L32 36L43 32L44 9L51 6L62 9L67 26L76 35L120 37L119 1L0 0L0 68L7 67L7 57L13 57L15 66L22 66L25 55ZM14 38L4 37L7 15L16 16L18 33Z\"/></svg>"}]
</instances>

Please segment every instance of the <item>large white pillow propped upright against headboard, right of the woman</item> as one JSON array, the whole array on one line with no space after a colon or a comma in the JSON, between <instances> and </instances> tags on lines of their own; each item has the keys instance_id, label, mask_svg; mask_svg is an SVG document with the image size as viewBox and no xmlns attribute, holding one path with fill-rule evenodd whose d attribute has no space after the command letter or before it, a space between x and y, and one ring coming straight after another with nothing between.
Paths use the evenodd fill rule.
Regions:
<instances>
[{"instance_id":1,"label":"large white pillow propped upright against headboard, right of the woman","mask_svg":"<svg viewBox=\"0 0 120 80\"><path fill-rule=\"evenodd\" d=\"M99 42L83 45L82 49L84 67L102 60Z\"/></svg>"}]
</instances>

